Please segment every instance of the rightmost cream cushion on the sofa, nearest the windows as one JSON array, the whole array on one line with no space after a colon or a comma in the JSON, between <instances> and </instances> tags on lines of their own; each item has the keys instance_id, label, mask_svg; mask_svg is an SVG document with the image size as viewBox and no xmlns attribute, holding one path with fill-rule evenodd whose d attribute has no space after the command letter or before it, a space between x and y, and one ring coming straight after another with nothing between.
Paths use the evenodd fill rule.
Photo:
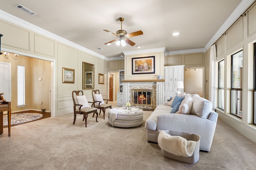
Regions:
<instances>
[{"instance_id":1,"label":"rightmost cream cushion on the sofa, nearest the windows","mask_svg":"<svg viewBox=\"0 0 256 170\"><path fill-rule=\"evenodd\" d=\"M204 98L196 98L192 104L191 114L202 118L208 118L212 111L212 103Z\"/></svg>"}]
</instances>

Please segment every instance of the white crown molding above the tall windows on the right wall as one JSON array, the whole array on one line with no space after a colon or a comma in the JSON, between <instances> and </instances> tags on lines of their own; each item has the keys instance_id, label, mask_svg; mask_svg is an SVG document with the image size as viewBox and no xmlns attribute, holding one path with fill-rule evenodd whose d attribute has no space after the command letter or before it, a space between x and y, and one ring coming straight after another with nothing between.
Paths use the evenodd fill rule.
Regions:
<instances>
[{"instance_id":1,"label":"white crown molding above the tall windows on the right wall","mask_svg":"<svg viewBox=\"0 0 256 170\"><path fill-rule=\"evenodd\" d=\"M242 2L236 7L220 29L218 29L218 31L214 34L212 39L210 39L210 41L206 44L204 49L208 50L254 2L255 0L242 0Z\"/></svg>"}]
</instances>

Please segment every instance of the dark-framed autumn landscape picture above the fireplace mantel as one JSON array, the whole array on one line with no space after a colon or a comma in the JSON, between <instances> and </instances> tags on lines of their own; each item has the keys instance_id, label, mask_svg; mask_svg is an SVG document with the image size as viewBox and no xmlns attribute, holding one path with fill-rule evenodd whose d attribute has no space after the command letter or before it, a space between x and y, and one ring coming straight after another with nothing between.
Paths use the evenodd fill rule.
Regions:
<instances>
[{"instance_id":1,"label":"dark-framed autumn landscape picture above the fireplace mantel","mask_svg":"<svg viewBox=\"0 0 256 170\"><path fill-rule=\"evenodd\" d=\"M154 74L155 56L132 58L132 74Z\"/></svg>"}]
</instances>

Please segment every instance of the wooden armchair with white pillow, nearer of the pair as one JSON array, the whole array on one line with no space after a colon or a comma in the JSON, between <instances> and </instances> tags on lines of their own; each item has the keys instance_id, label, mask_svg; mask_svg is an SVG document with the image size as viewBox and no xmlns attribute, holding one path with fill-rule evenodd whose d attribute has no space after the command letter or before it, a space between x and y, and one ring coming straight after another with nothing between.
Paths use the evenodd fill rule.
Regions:
<instances>
[{"instance_id":1,"label":"wooden armchair with white pillow, nearer of the pair","mask_svg":"<svg viewBox=\"0 0 256 170\"><path fill-rule=\"evenodd\" d=\"M81 95L79 95L79 94L81 94ZM76 96L76 98L75 98L75 96ZM74 102L74 122L73 122L73 125L75 124L75 121L76 121L76 114L83 114L84 115L83 121L85 119L85 127L87 127L87 117L88 117L89 113L93 113L92 117L94 117L94 113L96 113L96 115L97 115L96 116L96 122L98 122L97 121L97 118L98 118L97 108L93 107L94 102L88 102L87 101L86 96L84 95L84 92L82 90L73 91L72 92L72 98L73 98L73 102ZM89 103L92 103L91 106L89 106Z\"/></svg>"}]
</instances>

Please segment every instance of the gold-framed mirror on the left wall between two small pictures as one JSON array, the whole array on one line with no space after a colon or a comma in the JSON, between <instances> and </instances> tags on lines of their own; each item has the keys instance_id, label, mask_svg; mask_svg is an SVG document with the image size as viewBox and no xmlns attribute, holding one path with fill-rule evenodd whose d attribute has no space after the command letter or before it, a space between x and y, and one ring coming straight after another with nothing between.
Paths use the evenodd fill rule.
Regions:
<instances>
[{"instance_id":1,"label":"gold-framed mirror on the left wall between two small pictures","mask_svg":"<svg viewBox=\"0 0 256 170\"><path fill-rule=\"evenodd\" d=\"M94 89L94 64L83 62L83 90Z\"/></svg>"}]
</instances>

